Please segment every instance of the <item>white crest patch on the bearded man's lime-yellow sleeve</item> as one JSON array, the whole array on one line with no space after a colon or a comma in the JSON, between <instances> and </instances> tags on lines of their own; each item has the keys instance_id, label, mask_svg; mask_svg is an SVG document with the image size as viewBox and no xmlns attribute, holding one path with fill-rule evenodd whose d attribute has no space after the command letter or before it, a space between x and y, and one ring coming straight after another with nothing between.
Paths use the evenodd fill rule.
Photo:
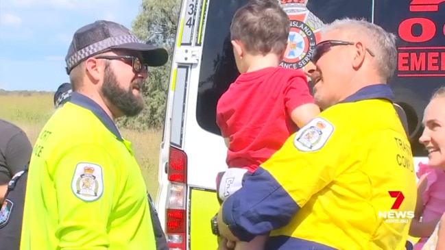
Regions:
<instances>
[{"instance_id":1,"label":"white crest patch on the bearded man's lime-yellow sleeve","mask_svg":"<svg viewBox=\"0 0 445 250\"><path fill-rule=\"evenodd\" d=\"M104 192L102 167L89 162L80 162L75 167L71 189L82 201L95 201Z\"/></svg>"}]
</instances>

